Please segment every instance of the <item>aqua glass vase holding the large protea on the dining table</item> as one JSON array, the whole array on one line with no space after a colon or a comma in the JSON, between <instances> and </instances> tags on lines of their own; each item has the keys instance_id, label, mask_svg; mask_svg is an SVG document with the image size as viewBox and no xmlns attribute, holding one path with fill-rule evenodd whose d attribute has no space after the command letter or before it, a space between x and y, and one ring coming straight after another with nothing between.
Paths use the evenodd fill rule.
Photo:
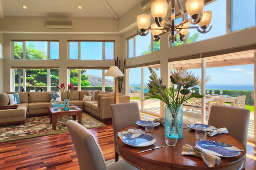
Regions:
<instances>
[{"instance_id":1,"label":"aqua glass vase holding the large protea on the dining table","mask_svg":"<svg viewBox=\"0 0 256 170\"><path fill-rule=\"evenodd\" d=\"M174 133L168 134L170 138L180 139L183 136L183 120L182 120L182 104L178 105L177 109L172 107L165 107L165 115L164 115L164 133L166 131L174 131L176 129L176 135ZM166 134L164 134L166 135Z\"/></svg>"}]
</instances>

